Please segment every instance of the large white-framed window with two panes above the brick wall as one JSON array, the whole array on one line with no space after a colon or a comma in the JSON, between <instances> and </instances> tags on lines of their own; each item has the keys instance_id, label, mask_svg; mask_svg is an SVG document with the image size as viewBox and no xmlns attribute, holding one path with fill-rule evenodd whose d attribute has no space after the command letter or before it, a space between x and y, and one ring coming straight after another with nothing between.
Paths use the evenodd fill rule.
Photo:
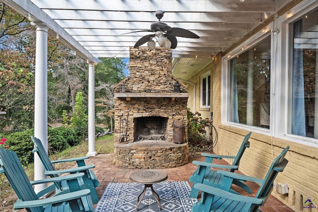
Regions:
<instances>
[{"instance_id":1,"label":"large white-framed window with two panes above the brick wall","mask_svg":"<svg viewBox=\"0 0 318 212\"><path fill-rule=\"evenodd\" d=\"M318 1L302 1L222 58L222 124L318 145Z\"/></svg>"}]
</instances>

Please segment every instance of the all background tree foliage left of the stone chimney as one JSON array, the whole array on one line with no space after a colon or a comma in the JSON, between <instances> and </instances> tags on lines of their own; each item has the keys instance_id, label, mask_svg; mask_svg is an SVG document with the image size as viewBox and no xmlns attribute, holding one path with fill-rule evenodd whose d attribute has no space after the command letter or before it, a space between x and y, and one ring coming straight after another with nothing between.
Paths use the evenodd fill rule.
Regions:
<instances>
[{"instance_id":1,"label":"all background tree foliage left of the stone chimney","mask_svg":"<svg viewBox=\"0 0 318 212\"><path fill-rule=\"evenodd\" d=\"M0 110L7 113L0 120L0 133L23 131L34 123L35 28L0 1ZM100 59L95 66L97 119L112 125L113 86L125 77L122 59ZM48 118L49 124L62 119L63 111L72 117L76 94L82 94L87 107L88 65L75 52L48 36ZM64 116L65 117L65 116ZM100 117L100 116L98 116Z\"/></svg>"}]
</instances>

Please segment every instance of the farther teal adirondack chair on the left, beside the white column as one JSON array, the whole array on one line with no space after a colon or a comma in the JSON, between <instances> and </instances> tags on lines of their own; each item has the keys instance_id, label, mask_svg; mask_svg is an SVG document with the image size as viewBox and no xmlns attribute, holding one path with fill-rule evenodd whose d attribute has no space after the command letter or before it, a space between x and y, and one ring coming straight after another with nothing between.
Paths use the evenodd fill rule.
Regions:
<instances>
[{"instance_id":1,"label":"farther teal adirondack chair on the left, beside the white column","mask_svg":"<svg viewBox=\"0 0 318 212\"><path fill-rule=\"evenodd\" d=\"M69 159L63 159L63 160L50 160L49 155L46 153L46 150L42 144L42 142L35 138L31 137L31 140L34 143L34 149L33 152L37 152L39 155L40 160L42 161L44 167L45 167L45 175L48 175L50 177L58 177L60 174L64 173L84 173L84 176L82 177L83 183L85 185L85 188L90 190L90 196L93 201L93 204L98 203L98 196L95 187L99 186L99 181L96 179L96 176L94 172L91 170L95 167L95 165L86 165L84 162L84 159L89 158L89 156L83 156L83 157L77 157L77 158L69 158ZM61 163L61 162L72 162L76 161L78 167L71 168L71 169L64 169L64 170L56 170L54 167L54 163ZM56 186L59 188L62 188L62 190L67 190L65 186L63 186L63 182L56 182Z\"/></svg>"}]
</instances>

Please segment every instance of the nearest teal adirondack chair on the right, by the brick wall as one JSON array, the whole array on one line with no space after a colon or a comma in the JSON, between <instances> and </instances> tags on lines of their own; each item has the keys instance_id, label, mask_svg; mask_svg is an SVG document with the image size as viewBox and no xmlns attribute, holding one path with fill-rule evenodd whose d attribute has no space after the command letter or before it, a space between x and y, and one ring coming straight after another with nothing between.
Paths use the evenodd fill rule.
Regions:
<instances>
[{"instance_id":1,"label":"nearest teal adirondack chair on the right, by the brick wall","mask_svg":"<svg viewBox=\"0 0 318 212\"><path fill-rule=\"evenodd\" d=\"M202 191L202 197L192 207L192 212L256 212L263 206L273 190L273 182L278 174L282 172L288 160L285 155L289 149L287 146L278 157L272 162L264 179L248 177L237 173L224 170L218 170L223 175L221 188L214 188L201 183L195 185L195 188ZM234 179L245 180L260 183L261 186L255 197L246 197L233 194L230 191Z\"/></svg>"}]
</instances>

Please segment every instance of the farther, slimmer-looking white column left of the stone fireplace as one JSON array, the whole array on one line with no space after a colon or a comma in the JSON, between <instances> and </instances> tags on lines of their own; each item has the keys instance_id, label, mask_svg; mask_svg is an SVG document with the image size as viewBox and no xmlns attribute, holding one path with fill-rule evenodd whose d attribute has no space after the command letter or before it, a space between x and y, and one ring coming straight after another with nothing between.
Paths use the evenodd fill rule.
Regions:
<instances>
[{"instance_id":1,"label":"farther, slimmer-looking white column left of the stone fireplace","mask_svg":"<svg viewBox=\"0 0 318 212\"><path fill-rule=\"evenodd\" d=\"M96 156L95 149L95 67L88 66L88 152L89 156Z\"/></svg>"}]
</instances>

